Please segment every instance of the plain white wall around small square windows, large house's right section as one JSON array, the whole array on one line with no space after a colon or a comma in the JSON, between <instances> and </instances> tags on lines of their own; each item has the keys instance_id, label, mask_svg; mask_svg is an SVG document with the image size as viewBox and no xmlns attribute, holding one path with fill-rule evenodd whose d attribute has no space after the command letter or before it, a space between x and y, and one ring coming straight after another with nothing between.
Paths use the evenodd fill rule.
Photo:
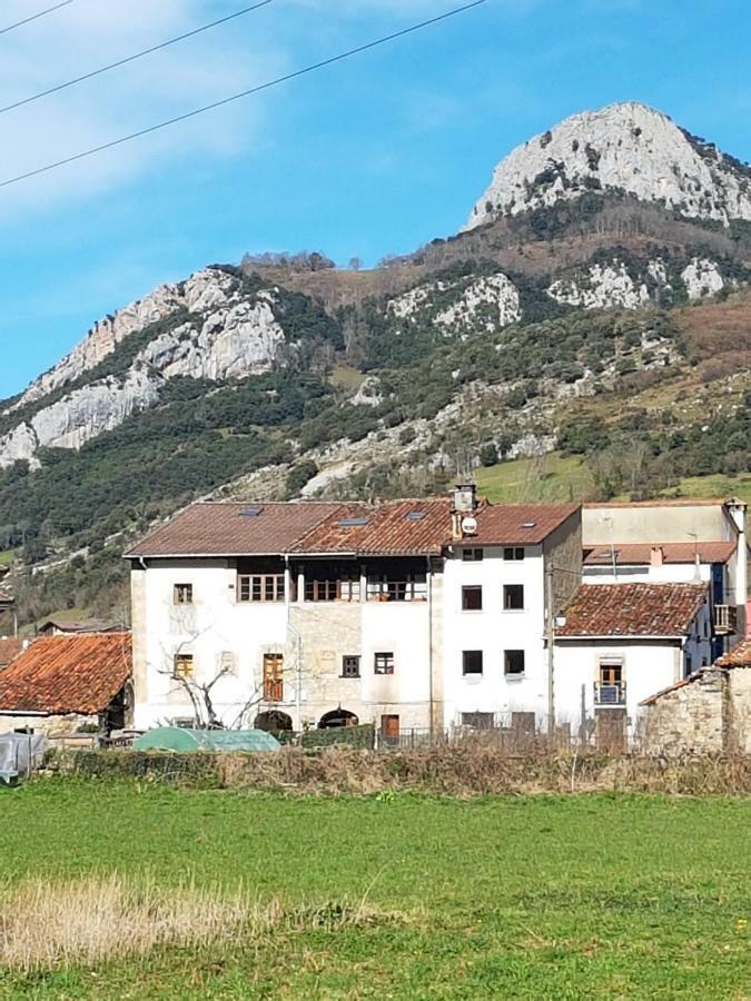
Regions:
<instances>
[{"instance_id":1,"label":"plain white wall around small square windows, large house's right section","mask_svg":"<svg viewBox=\"0 0 751 1001\"><path fill-rule=\"evenodd\" d=\"M541 546L527 546L523 561L504 561L503 548L486 548L477 563L465 563L457 551L444 569L445 726L461 723L462 713L534 712L542 724L547 713L547 653L544 646L545 583ZM503 609L504 584L524 585L524 611ZM462 587L481 585L482 612L462 611ZM483 651L482 676L462 674L462 652ZM521 678L504 676L504 651L525 652Z\"/></svg>"}]
</instances>

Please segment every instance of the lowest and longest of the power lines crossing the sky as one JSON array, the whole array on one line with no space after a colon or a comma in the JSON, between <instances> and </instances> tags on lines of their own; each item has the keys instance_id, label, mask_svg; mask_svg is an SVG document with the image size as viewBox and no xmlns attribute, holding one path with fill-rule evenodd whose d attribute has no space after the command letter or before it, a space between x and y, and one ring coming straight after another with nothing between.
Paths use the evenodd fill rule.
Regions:
<instances>
[{"instance_id":1,"label":"lowest and longest of the power lines crossing the sky","mask_svg":"<svg viewBox=\"0 0 751 1001\"><path fill-rule=\"evenodd\" d=\"M448 10L435 18L429 18L426 21L419 21L417 24L411 24L409 28L403 28L401 31L394 31L392 34L385 34L382 38L375 39L375 41L366 42L365 44L357 46L354 49L348 49L346 52L339 52L338 56L332 56L328 59L323 59L320 62L314 62L312 66L304 67L304 69L295 70L291 73L286 73L284 77L277 77L276 79L268 80L265 83L259 83L257 87L251 87L248 90L243 90L240 91L240 93L234 93L231 97L223 98L219 101L213 101L210 105L205 105L202 108L196 108L192 111L186 111L185 115L178 115L175 118L169 118L167 119L167 121L160 121L158 125L149 126L146 129L139 129L137 132L131 132L129 136L121 136L119 139L112 139L110 142L103 142L101 146L95 146L91 149L75 153L71 157L65 157L65 159L62 160L56 160L52 163L46 163L43 167L37 167L34 170L28 170L26 174L19 174L17 177L10 177L7 180L0 181L0 188L7 188L10 185L17 185L20 181L29 180L29 178L38 177L40 174L48 174L50 170L57 170L59 167L68 166L68 163L75 163L78 160L83 160L87 157L96 156L96 153L103 152L105 150L122 146L125 142L131 142L134 139L140 139L144 136L149 136L151 132L158 132L161 129L167 129L170 126L178 125L181 121L187 121L188 119L196 118L199 115L205 115L207 111L214 111L217 108L223 108L225 105L233 103L233 101L239 101L243 98L250 97L255 93L260 93L260 91L263 90L269 90L271 87L278 87L280 83L286 83L289 80L295 80L298 77L304 77L308 73L313 73L316 70L333 66L336 62L343 62L345 59L350 59L353 56L358 56L362 52L367 52L370 49L375 49L378 46L384 46L387 42L395 41L398 38L404 38L407 34L413 34L415 31L421 31L423 28L428 28L432 24L437 24L439 21L445 21L448 18L465 13L466 11L472 10L475 7L482 7L482 4L485 2L486 0L473 0L472 3L465 3L463 7L455 7L453 8L453 10Z\"/></svg>"}]
</instances>

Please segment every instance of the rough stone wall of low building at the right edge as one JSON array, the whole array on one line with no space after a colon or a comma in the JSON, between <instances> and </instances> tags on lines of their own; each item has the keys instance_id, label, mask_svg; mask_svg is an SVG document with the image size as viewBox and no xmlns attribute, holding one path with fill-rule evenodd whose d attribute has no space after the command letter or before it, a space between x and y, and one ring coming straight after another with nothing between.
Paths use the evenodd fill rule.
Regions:
<instances>
[{"instance_id":1,"label":"rough stone wall of low building at the right edge","mask_svg":"<svg viewBox=\"0 0 751 1001\"><path fill-rule=\"evenodd\" d=\"M710 667L643 707L648 754L751 753L751 668Z\"/></svg>"}]
</instances>

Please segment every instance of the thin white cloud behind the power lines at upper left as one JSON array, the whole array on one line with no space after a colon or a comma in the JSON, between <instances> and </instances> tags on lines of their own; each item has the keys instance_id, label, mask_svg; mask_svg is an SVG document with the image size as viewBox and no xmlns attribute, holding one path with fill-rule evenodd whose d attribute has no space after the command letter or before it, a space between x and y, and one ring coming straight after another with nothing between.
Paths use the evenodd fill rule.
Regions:
<instances>
[{"instance_id":1,"label":"thin white cloud behind the power lines at upper left","mask_svg":"<svg viewBox=\"0 0 751 1001\"><path fill-rule=\"evenodd\" d=\"M2 23L28 14L27 0L9 0ZM271 8L269 8L270 10ZM76 0L2 37L0 106L158 44L224 13L206 0ZM261 82L288 68L268 40L266 11L148 56L121 69L0 115L0 180L149 127ZM0 23L0 27L2 24ZM256 24L253 26L254 29ZM248 48L250 39L250 49ZM255 40L254 40L255 39ZM0 216L88 197L140 176L155 163L195 153L225 156L251 143L264 102L240 101L90 159L0 189Z\"/></svg>"}]
</instances>

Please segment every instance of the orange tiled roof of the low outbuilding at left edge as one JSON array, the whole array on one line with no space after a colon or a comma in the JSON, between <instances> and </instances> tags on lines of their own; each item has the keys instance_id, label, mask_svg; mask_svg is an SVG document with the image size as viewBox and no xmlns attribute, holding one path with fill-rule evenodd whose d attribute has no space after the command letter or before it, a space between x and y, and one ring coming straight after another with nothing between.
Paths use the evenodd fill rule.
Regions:
<instances>
[{"instance_id":1,"label":"orange tiled roof of the low outbuilding at left edge","mask_svg":"<svg viewBox=\"0 0 751 1001\"><path fill-rule=\"evenodd\" d=\"M132 673L129 633L37 640L0 674L0 712L103 712Z\"/></svg>"}]
</instances>

